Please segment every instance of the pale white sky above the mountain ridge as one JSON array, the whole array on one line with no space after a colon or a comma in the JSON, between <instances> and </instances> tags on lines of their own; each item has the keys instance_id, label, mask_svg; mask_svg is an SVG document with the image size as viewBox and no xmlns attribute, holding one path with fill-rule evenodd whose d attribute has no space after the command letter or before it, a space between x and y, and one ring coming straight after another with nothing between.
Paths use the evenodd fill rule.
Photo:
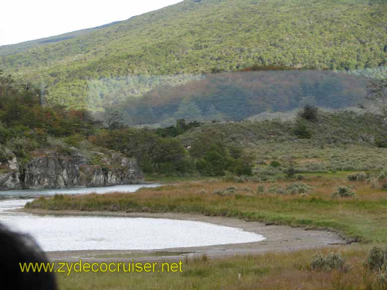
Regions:
<instances>
[{"instance_id":1,"label":"pale white sky above the mountain ridge","mask_svg":"<svg viewBox=\"0 0 387 290\"><path fill-rule=\"evenodd\" d=\"M125 20L182 0L2 0L0 45Z\"/></svg>"}]
</instances>

